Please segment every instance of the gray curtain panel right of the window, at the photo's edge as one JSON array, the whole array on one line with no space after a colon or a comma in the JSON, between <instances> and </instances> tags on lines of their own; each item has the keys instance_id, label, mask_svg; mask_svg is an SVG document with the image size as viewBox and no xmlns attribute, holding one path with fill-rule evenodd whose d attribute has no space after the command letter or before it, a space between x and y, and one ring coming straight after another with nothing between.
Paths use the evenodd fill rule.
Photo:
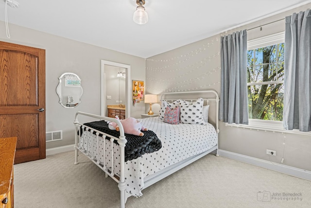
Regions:
<instances>
[{"instance_id":1,"label":"gray curtain panel right of the window, at the photo's edge","mask_svg":"<svg viewBox=\"0 0 311 208\"><path fill-rule=\"evenodd\" d=\"M285 18L284 108L286 130L311 131L311 10Z\"/></svg>"}]
</instances>

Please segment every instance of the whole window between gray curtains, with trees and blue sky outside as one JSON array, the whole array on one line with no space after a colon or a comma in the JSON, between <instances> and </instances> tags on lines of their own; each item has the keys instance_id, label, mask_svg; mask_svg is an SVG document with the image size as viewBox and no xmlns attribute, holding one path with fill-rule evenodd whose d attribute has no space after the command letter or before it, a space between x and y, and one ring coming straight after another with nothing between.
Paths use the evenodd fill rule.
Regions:
<instances>
[{"instance_id":1,"label":"whole window between gray curtains, with trees and blue sky outside","mask_svg":"<svg viewBox=\"0 0 311 208\"><path fill-rule=\"evenodd\" d=\"M247 92L250 122L283 120L284 33L248 41Z\"/></svg>"}]
</instances>

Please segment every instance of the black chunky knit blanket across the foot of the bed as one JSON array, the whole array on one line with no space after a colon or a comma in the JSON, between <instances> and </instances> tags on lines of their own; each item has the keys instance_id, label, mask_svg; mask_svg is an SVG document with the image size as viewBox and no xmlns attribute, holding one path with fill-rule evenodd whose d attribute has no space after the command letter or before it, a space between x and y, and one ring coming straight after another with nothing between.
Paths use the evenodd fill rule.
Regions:
<instances>
[{"instance_id":1,"label":"black chunky knit blanket across the foot of the bed","mask_svg":"<svg viewBox=\"0 0 311 208\"><path fill-rule=\"evenodd\" d=\"M106 121L93 121L89 123L83 124L84 126L91 127L100 132L107 133L109 135L115 136L119 138L120 132L115 130L110 130ZM93 132L94 134L96 132ZM158 151L162 148L161 140L157 138L155 132L146 131L143 132L143 136L136 136L132 134L125 133L126 144L125 144L125 162L128 160L133 160L145 153L151 153L154 151ZM102 134L100 134L102 136ZM106 139L110 140L110 137L106 136ZM117 140L114 140L114 143L118 145Z\"/></svg>"}]
</instances>

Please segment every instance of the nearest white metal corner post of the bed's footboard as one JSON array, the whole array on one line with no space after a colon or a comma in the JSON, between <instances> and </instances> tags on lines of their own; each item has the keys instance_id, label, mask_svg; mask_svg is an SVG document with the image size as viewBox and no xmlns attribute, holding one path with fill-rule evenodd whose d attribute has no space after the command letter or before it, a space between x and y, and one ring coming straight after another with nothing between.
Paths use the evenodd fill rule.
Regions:
<instances>
[{"instance_id":1,"label":"nearest white metal corner post of the bed's footboard","mask_svg":"<svg viewBox=\"0 0 311 208\"><path fill-rule=\"evenodd\" d=\"M120 127L120 126L119 126ZM125 188L126 188L126 184L125 184L125 151L124 151L124 147L125 147L125 143L127 142L127 140L125 139L124 136L124 130L123 128L120 128L120 140L118 141L119 146L120 146L120 153L121 153L121 158L120 158L120 165L121 165L121 169L120 169L120 180L119 180L119 189L120 189L120 199L121 199L121 208L125 208Z\"/></svg>"}]
</instances>

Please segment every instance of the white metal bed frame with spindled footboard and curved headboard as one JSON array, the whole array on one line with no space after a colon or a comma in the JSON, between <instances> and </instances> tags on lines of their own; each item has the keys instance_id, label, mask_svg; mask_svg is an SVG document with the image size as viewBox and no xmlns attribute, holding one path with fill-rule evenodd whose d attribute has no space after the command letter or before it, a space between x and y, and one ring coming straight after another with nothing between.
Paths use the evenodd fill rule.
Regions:
<instances>
[{"instance_id":1,"label":"white metal bed frame with spindled footboard and curved headboard","mask_svg":"<svg viewBox=\"0 0 311 208\"><path fill-rule=\"evenodd\" d=\"M180 94L188 94L188 95L191 95L191 94L214 94L214 97L213 98L207 98L207 99L204 99L205 101L207 101L207 103L209 101L215 101L216 102L216 124L215 124L215 129L216 129L216 132L217 132L217 145L215 145L214 147L212 147L211 149L209 149L208 151L205 151L203 153L200 153L196 156L193 156L193 157L190 157L189 159L186 159L186 160L183 160L182 162L178 163L178 164L174 164L168 168L166 168L164 171L159 171L158 173L155 173L154 174L154 177L148 179L147 181L144 181L144 187L143 189L146 189L147 187L155 184L156 182L160 181L161 179L171 175L172 173L176 172L177 170L180 170L186 166L188 166L190 163L200 159L201 157L207 155L208 153L212 152L212 151L216 151L216 156L219 156L218 154L218 133L219 133L219 121L218 121L218 111L219 111L219 95L216 91L214 90L206 90L206 91L190 91L190 92L175 92L175 93L165 93L165 94L162 94L161 95L161 100L172 100L172 99L162 99L164 96L166 95L180 95ZM201 95L202 97L202 95ZM179 98L178 98L179 99ZM175 98L173 100L176 100ZM172 101L173 101L172 100ZM193 100L193 99L184 99L184 100ZM85 116L88 116L88 117L93 117L93 118L97 118L97 119L101 119L101 120L107 120L107 121L112 121L112 122L116 122L118 124L118 126L120 127L120 137L117 138L117 137L114 137L112 135L109 135L107 133L104 133L104 132L99 132L95 129L92 129L90 127L86 127L84 126L83 124L79 123L78 121L78 116L79 115L85 115ZM119 185L119 189L120 189L120 193L121 193L121 196L120 196L120 199L121 199L121 205L120 207L121 208L125 208L125 203L126 203L126 200L128 197L130 197L131 195L129 193L127 193L125 191L125 188L126 188L126 183L125 183L125 162L124 162L124 147L126 145L126 138L125 138L125 135L124 135L124 130L123 130L123 127L122 127L122 124L121 122L118 120L118 119L115 119L115 118L110 118L110 117L105 117L105 116L100 116L100 115L95 115L95 114L90 114L90 113L83 113L83 112L77 112L75 114L75 119L74 119L74 125L75 125L75 132L78 132L80 131L80 127L82 126L83 129L85 129L86 131L90 131L90 133L93 133L94 131L96 132L96 136L97 136L97 141L99 139L99 134L103 134L103 138L105 138L106 136L110 137L110 142L111 142L111 157L112 157L112 166L113 167L113 151L112 151L112 148L113 148L113 142L114 140L117 140L117 142L119 143L119 147L120 147L120 177L118 178L118 176L116 176L113 172L113 170L108 170L107 167L105 166L105 162L104 164L100 164L99 160L96 160L94 158L93 155L89 154L89 152L87 151L84 151L84 150L81 150L79 149L79 142L81 141L81 134L82 132L79 133L79 135L77 133L75 133L75 145L74 145L74 150L75 150L75 162L74 164L78 164L78 151L81 151L82 153L84 153L92 162L94 162L99 168L101 168L104 172L105 172L105 175L106 177L109 175L113 180L115 180ZM99 142L97 142L97 145L99 145ZM91 148L93 148L93 145L91 144ZM97 151L99 151L99 148L97 147ZM104 151L105 151L105 148L104 148ZM93 150L91 151L93 152ZM99 152L97 152L97 155L99 155Z\"/></svg>"}]
</instances>

